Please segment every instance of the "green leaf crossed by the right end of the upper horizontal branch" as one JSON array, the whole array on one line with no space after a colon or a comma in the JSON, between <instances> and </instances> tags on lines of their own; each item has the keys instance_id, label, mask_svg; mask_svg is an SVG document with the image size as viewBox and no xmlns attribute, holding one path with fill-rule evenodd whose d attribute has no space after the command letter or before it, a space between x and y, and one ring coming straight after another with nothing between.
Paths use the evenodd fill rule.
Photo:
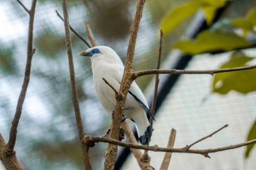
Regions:
<instances>
[{"instance_id":1,"label":"green leaf crossed by the right end of the upper horizontal branch","mask_svg":"<svg viewBox=\"0 0 256 170\"><path fill-rule=\"evenodd\" d=\"M253 60L241 52L234 52L230 60L224 63L220 69L247 66L246 63ZM256 90L256 69L245 71L234 71L230 73L218 73L214 75L212 89L215 93L226 94L231 90L240 93L249 93Z\"/></svg>"}]
</instances>

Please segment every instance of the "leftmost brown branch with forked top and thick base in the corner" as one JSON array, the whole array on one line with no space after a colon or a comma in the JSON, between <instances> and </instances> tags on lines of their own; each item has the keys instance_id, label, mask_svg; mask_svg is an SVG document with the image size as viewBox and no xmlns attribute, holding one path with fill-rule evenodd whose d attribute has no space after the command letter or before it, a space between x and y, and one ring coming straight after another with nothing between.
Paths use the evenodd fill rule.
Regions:
<instances>
[{"instance_id":1,"label":"leftmost brown branch with forked top and thick base in the corner","mask_svg":"<svg viewBox=\"0 0 256 170\"><path fill-rule=\"evenodd\" d=\"M32 48L33 45L33 28L34 28L34 14L36 12L36 0L32 1L32 5L30 10L26 8L26 6L21 2L18 1L20 5L24 8L24 10L29 14L30 21L28 25L28 45L27 45L27 61L26 61L26 68L24 73L24 81L22 84L22 90L20 91L20 96L18 98L18 103L15 110L15 115L13 118L13 121L11 123L11 130L9 132L9 140L7 144L5 143L5 140L3 136L0 134L0 159L3 162L3 165L5 165L5 168L7 170L20 170L23 169L22 165L18 161L17 157L15 156L15 151L13 150L16 142L17 137L17 129L18 124L20 121L20 117L22 116L22 106L26 97L26 91L28 89L28 84L30 81L30 70L32 65L32 56L35 52L35 49Z\"/></svg>"}]
</instances>

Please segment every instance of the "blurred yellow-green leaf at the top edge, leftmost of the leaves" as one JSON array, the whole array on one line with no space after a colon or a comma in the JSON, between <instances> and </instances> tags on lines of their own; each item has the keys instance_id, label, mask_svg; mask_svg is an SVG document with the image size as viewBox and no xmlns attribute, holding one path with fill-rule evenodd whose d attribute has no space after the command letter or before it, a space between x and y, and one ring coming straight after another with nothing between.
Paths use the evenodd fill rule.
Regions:
<instances>
[{"instance_id":1,"label":"blurred yellow-green leaf at the top edge, leftmost of the leaves","mask_svg":"<svg viewBox=\"0 0 256 170\"><path fill-rule=\"evenodd\" d=\"M193 15L201 5L201 1L189 1L171 11L168 11L162 19L162 22L160 22L160 28L162 28L164 34L171 32L176 26L181 24L184 19Z\"/></svg>"}]
</instances>

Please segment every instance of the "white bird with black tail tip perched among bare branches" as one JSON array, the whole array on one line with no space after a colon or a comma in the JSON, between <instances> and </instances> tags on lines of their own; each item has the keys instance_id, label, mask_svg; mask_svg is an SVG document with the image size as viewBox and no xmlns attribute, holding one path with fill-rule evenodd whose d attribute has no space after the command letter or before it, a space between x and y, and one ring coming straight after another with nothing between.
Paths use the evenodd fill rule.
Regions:
<instances>
[{"instance_id":1,"label":"white bird with black tail tip perched among bare branches","mask_svg":"<svg viewBox=\"0 0 256 170\"><path fill-rule=\"evenodd\" d=\"M79 55L90 56L96 95L103 108L111 115L116 105L115 91L104 83L102 77L119 91L125 68L123 62L118 54L108 46L89 48L88 50L79 52ZM133 81L127 94L123 114L135 122L141 144L149 144L152 136L152 129L146 113L150 114L146 98L135 81Z\"/></svg>"}]
</instances>

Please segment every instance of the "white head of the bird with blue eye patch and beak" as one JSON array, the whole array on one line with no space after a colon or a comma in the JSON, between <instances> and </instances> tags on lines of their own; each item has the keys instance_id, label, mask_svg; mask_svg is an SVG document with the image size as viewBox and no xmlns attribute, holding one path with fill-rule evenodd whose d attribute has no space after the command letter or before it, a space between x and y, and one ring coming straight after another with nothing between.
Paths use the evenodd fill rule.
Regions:
<instances>
[{"instance_id":1,"label":"white head of the bird with blue eye patch and beak","mask_svg":"<svg viewBox=\"0 0 256 170\"><path fill-rule=\"evenodd\" d=\"M78 53L79 56L89 56L92 61L104 60L106 62L119 62L123 65L123 62L117 55L117 53L108 46L95 46L88 48L87 50Z\"/></svg>"}]
</instances>

